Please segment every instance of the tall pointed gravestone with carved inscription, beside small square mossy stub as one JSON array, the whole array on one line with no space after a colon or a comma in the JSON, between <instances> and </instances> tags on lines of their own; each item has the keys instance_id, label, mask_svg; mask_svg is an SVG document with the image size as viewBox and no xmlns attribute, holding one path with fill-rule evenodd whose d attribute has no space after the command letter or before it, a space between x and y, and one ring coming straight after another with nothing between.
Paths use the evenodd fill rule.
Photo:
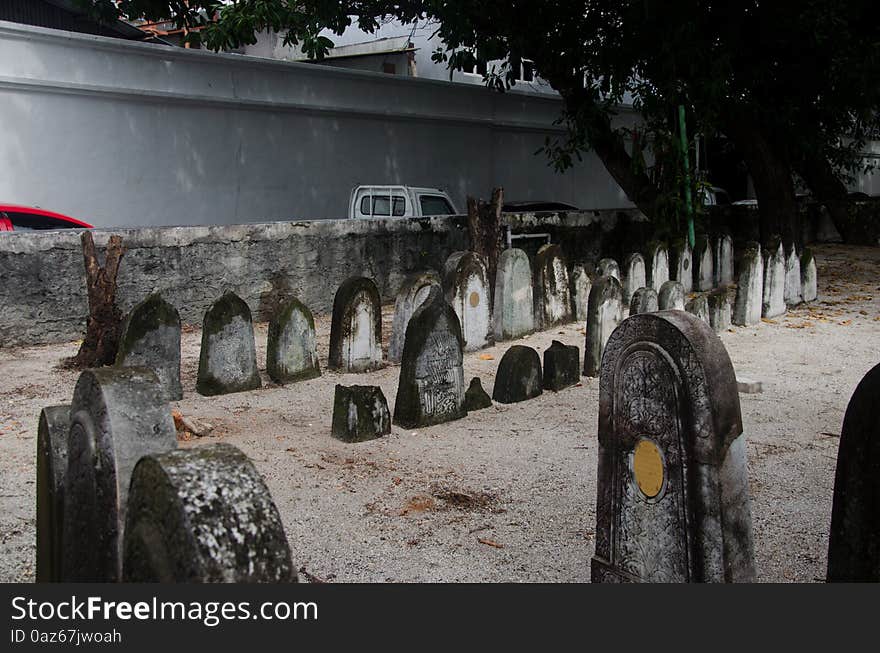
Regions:
<instances>
[{"instance_id":1,"label":"tall pointed gravestone with carved inscription, beside small square mossy stub","mask_svg":"<svg viewBox=\"0 0 880 653\"><path fill-rule=\"evenodd\" d=\"M461 326L439 287L413 313L406 328L394 423L431 426L467 415Z\"/></svg>"}]
</instances>

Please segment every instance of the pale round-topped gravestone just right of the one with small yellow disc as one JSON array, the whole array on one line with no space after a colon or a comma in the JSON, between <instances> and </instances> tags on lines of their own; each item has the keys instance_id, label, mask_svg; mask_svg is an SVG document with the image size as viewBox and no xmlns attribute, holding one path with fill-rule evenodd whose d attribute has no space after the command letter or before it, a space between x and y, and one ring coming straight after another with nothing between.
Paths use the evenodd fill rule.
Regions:
<instances>
[{"instance_id":1,"label":"pale round-topped gravestone just right of the one with small yellow disc","mask_svg":"<svg viewBox=\"0 0 880 653\"><path fill-rule=\"evenodd\" d=\"M532 297L532 265L521 249L505 249L498 257L495 274L495 310L492 315L496 340L520 338L535 330Z\"/></svg>"}]
</instances>

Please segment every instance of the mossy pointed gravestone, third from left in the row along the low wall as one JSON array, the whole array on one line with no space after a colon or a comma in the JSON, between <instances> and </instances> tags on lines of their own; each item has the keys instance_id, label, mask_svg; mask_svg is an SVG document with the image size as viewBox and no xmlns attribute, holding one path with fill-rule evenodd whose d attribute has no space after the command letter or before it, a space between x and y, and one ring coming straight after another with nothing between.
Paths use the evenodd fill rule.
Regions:
<instances>
[{"instance_id":1,"label":"mossy pointed gravestone, third from left in the row along the low wall","mask_svg":"<svg viewBox=\"0 0 880 653\"><path fill-rule=\"evenodd\" d=\"M315 319L298 299L285 302L269 321L266 372L275 383L321 376L315 348Z\"/></svg>"}]
</instances>

